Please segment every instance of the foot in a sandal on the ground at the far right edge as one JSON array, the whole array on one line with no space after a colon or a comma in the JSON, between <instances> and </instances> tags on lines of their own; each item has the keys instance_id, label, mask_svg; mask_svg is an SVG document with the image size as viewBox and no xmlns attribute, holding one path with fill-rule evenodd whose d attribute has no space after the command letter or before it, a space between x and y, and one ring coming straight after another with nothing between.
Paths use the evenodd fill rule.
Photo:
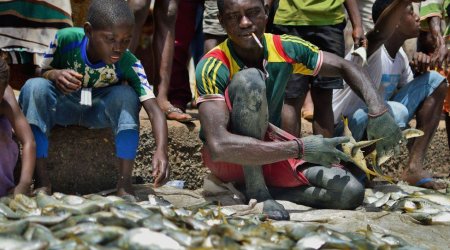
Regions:
<instances>
[{"instance_id":1,"label":"foot in a sandal on the ground at the far right edge","mask_svg":"<svg viewBox=\"0 0 450 250\"><path fill-rule=\"evenodd\" d=\"M440 190L445 189L447 184L437 182L433 179L433 175L426 170L406 169L402 174L402 179L413 186Z\"/></svg>"}]
</instances>

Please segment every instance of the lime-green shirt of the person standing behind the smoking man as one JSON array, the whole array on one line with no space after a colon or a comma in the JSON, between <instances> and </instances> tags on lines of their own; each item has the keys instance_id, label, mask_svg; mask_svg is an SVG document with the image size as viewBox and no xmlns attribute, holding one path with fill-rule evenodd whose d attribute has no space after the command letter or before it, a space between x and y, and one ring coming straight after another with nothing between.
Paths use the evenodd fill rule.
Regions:
<instances>
[{"instance_id":1,"label":"lime-green shirt of the person standing behind the smoking man","mask_svg":"<svg viewBox=\"0 0 450 250\"><path fill-rule=\"evenodd\" d=\"M277 25L333 25L345 20L344 0L280 0Z\"/></svg>"}]
</instances>

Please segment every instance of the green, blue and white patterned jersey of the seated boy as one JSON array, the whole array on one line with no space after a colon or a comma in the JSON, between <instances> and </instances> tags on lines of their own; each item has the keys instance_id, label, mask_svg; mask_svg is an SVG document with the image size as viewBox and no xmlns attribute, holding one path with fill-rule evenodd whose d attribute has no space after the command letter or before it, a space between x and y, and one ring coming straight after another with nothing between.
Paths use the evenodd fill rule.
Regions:
<instances>
[{"instance_id":1,"label":"green, blue and white patterned jersey of the seated boy","mask_svg":"<svg viewBox=\"0 0 450 250\"><path fill-rule=\"evenodd\" d=\"M86 54L87 42L82 28L58 31L44 55L42 69L73 69L83 75L83 87L101 88L127 81L141 102L155 97L142 64L130 51L115 64L92 64Z\"/></svg>"}]
</instances>

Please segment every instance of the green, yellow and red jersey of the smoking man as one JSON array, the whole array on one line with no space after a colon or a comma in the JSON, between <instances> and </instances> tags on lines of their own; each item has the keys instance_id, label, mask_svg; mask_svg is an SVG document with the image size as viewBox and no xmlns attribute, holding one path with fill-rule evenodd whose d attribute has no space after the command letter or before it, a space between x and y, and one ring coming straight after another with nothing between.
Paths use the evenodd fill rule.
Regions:
<instances>
[{"instance_id":1,"label":"green, yellow and red jersey of the smoking man","mask_svg":"<svg viewBox=\"0 0 450 250\"><path fill-rule=\"evenodd\" d=\"M292 73L316 75L322 65L322 53L315 45L295 36L264 34L264 70L269 121L281 123L284 90ZM208 52L197 65L197 103L224 100L230 79L247 68L233 49L230 39Z\"/></svg>"}]
</instances>

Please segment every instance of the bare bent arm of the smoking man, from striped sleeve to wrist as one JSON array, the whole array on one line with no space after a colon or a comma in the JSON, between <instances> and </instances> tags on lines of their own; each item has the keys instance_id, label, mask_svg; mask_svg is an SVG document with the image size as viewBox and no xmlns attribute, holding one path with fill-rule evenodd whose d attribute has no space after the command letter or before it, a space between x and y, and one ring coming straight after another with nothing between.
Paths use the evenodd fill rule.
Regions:
<instances>
[{"instance_id":1,"label":"bare bent arm of the smoking man, from striped sleeve to wrist","mask_svg":"<svg viewBox=\"0 0 450 250\"><path fill-rule=\"evenodd\" d=\"M201 103L199 114L213 161L262 165L298 156L295 141L266 142L229 132L230 113L224 101Z\"/></svg>"}]
</instances>

